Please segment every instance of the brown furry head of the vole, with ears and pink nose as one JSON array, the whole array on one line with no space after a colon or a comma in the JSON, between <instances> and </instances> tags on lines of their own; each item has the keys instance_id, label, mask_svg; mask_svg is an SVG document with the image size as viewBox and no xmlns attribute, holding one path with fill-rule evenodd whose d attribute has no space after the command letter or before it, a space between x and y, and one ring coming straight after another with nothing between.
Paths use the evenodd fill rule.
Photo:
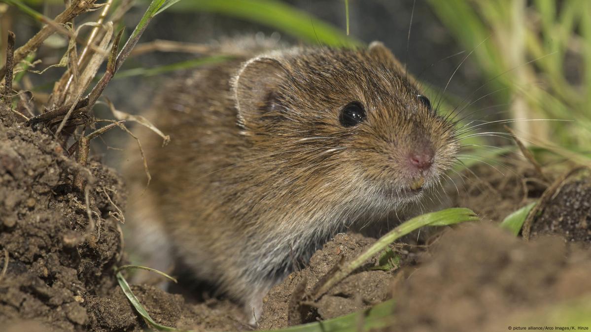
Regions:
<instances>
[{"instance_id":1,"label":"brown furry head of the vole, with ears and pink nose","mask_svg":"<svg viewBox=\"0 0 591 332\"><path fill-rule=\"evenodd\" d=\"M459 148L453 123L381 43L254 58L233 87L253 148L325 199L416 201L440 184Z\"/></svg>"}]
</instances>

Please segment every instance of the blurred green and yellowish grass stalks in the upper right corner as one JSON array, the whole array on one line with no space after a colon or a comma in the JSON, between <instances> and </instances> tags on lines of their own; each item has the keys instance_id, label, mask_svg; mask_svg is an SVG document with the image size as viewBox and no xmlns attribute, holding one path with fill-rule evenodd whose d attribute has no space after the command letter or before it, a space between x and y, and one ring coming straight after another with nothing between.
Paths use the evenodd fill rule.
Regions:
<instances>
[{"instance_id":1,"label":"blurred green and yellowish grass stalks in the upper right corner","mask_svg":"<svg viewBox=\"0 0 591 332\"><path fill-rule=\"evenodd\" d=\"M572 120L515 122L519 136L591 162L591 1L428 2L488 77L479 94L498 90L508 118Z\"/></svg>"}]
</instances>

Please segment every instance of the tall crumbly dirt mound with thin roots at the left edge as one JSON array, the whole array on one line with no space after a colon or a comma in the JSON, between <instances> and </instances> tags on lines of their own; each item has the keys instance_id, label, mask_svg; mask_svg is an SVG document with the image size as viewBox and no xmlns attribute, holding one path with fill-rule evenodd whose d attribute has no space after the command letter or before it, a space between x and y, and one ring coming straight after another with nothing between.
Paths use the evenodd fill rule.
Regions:
<instances>
[{"instance_id":1,"label":"tall crumbly dirt mound with thin roots at the left edge","mask_svg":"<svg viewBox=\"0 0 591 332\"><path fill-rule=\"evenodd\" d=\"M90 165L92 229L84 193L69 185L78 168L42 131L0 123L0 245L9 255L1 321L79 330L88 321L86 298L115 285L122 243L109 213L122 206L122 183L98 162Z\"/></svg>"}]
</instances>

